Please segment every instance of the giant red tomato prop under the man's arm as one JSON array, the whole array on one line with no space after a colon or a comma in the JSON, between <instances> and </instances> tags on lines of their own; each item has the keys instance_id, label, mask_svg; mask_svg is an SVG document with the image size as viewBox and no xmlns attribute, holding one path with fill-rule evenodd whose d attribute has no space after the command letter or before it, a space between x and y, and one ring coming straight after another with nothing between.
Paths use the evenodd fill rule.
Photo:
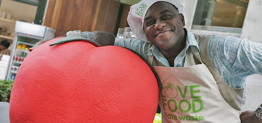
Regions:
<instances>
[{"instance_id":1,"label":"giant red tomato prop under the man's arm","mask_svg":"<svg viewBox=\"0 0 262 123\"><path fill-rule=\"evenodd\" d=\"M50 40L20 66L10 98L11 123L152 123L158 83L149 66L118 46Z\"/></svg>"}]
</instances>

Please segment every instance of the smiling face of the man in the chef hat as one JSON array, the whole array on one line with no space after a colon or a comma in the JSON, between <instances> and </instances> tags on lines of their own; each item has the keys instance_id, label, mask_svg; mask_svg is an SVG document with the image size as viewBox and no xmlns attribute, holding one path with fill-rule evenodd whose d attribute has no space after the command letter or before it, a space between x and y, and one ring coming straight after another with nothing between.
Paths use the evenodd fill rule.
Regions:
<instances>
[{"instance_id":1,"label":"smiling face of the man in the chef hat","mask_svg":"<svg viewBox=\"0 0 262 123\"><path fill-rule=\"evenodd\" d=\"M160 49L168 50L183 39L184 16L168 2L156 2L145 14L146 38Z\"/></svg>"}]
</instances>

